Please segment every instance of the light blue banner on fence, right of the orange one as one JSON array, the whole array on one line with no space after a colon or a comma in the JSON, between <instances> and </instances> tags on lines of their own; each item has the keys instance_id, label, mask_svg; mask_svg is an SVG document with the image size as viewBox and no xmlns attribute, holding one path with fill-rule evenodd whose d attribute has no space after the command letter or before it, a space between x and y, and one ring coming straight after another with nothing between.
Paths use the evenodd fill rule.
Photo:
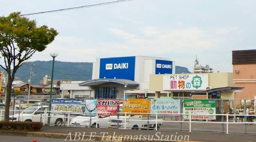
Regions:
<instances>
[{"instance_id":1,"label":"light blue banner on fence, right of the orange one","mask_svg":"<svg viewBox=\"0 0 256 142\"><path fill-rule=\"evenodd\" d=\"M178 99L150 99L150 113L180 113L180 100ZM161 116L159 114L159 116Z\"/></svg>"}]
</instances>

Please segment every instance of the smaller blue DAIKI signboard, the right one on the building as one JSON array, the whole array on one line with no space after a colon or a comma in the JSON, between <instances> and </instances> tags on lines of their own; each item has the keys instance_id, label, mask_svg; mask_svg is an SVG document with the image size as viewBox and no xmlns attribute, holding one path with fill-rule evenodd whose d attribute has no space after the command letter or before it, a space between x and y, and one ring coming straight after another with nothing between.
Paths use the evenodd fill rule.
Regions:
<instances>
[{"instance_id":1,"label":"smaller blue DAIKI signboard, the right one on the building","mask_svg":"<svg viewBox=\"0 0 256 142\"><path fill-rule=\"evenodd\" d=\"M172 61L156 60L156 74L172 74Z\"/></svg>"}]
</instances>

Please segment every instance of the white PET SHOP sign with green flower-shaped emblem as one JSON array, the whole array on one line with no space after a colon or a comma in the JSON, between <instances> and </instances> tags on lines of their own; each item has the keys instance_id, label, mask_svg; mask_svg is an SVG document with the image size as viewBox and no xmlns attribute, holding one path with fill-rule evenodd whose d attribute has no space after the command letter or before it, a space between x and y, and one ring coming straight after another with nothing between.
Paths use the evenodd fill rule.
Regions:
<instances>
[{"instance_id":1,"label":"white PET SHOP sign with green flower-shaped emblem","mask_svg":"<svg viewBox=\"0 0 256 142\"><path fill-rule=\"evenodd\" d=\"M164 75L164 90L205 90L208 87L208 74Z\"/></svg>"}]
</instances>

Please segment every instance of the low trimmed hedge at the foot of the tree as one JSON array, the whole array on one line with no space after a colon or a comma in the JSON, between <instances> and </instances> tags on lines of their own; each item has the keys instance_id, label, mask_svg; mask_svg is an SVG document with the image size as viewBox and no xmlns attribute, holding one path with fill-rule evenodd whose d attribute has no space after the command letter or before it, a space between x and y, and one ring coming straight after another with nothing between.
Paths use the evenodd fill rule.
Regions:
<instances>
[{"instance_id":1,"label":"low trimmed hedge at the foot of the tree","mask_svg":"<svg viewBox=\"0 0 256 142\"><path fill-rule=\"evenodd\" d=\"M0 121L0 130L40 130L41 122Z\"/></svg>"}]
</instances>

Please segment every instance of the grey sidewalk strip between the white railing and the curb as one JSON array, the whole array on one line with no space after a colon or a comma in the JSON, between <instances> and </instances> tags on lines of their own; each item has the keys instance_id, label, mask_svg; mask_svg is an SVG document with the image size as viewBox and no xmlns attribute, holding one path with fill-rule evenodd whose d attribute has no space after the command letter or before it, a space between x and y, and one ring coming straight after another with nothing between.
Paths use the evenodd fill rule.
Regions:
<instances>
[{"instance_id":1,"label":"grey sidewalk strip between the white railing and the curb","mask_svg":"<svg viewBox=\"0 0 256 142\"><path fill-rule=\"evenodd\" d=\"M200 141L200 142L255 142L256 134L223 134L219 132L188 132L179 130L124 130L124 129L110 129L110 128L85 128L85 127L56 127L56 126L43 126L41 132L51 132L51 133L62 133L62 134L75 134L75 132L80 132L83 134L98 135L98 136L124 136L132 135L134 136L189 136L190 141ZM157 133L158 132L158 133Z\"/></svg>"}]
</instances>

